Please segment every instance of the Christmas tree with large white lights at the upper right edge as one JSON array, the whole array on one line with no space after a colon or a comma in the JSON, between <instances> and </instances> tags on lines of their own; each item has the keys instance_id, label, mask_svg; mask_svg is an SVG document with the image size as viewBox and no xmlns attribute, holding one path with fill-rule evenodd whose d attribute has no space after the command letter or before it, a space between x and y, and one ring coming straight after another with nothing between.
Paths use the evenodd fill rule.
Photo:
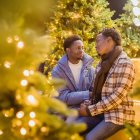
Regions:
<instances>
[{"instance_id":1,"label":"Christmas tree with large white lights at the upper right edge","mask_svg":"<svg viewBox=\"0 0 140 140\"><path fill-rule=\"evenodd\" d=\"M140 2L128 0L121 18L116 20L122 46L130 57L140 56Z\"/></svg>"}]
</instances>

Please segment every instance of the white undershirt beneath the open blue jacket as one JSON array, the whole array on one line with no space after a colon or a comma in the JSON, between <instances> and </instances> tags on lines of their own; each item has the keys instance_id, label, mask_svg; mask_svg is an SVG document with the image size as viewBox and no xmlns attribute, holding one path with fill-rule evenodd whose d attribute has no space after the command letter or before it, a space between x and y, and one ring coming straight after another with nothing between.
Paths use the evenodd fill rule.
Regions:
<instances>
[{"instance_id":1,"label":"white undershirt beneath the open blue jacket","mask_svg":"<svg viewBox=\"0 0 140 140\"><path fill-rule=\"evenodd\" d=\"M78 85L83 62L82 62L82 60L80 60L78 64L72 64L70 61L68 61L68 65L72 71L75 83L76 83L76 85Z\"/></svg>"}]
</instances>

